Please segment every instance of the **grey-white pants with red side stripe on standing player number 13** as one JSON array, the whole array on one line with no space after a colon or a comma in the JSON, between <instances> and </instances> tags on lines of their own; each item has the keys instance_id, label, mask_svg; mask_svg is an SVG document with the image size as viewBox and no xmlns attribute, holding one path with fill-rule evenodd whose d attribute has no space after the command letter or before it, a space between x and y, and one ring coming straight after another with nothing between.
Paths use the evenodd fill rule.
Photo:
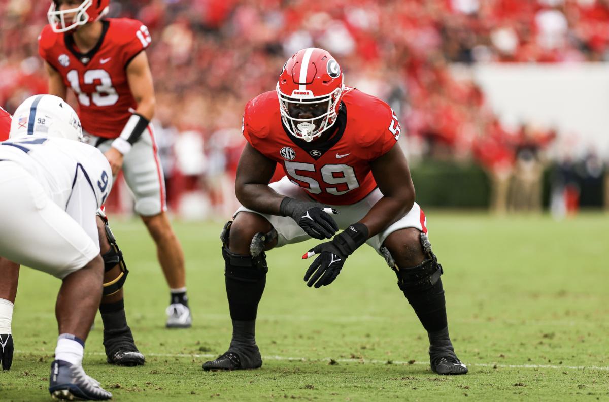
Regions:
<instances>
[{"instance_id":1,"label":"grey-white pants with red side stripe on standing player number 13","mask_svg":"<svg viewBox=\"0 0 609 402\"><path fill-rule=\"evenodd\" d=\"M93 139L89 139L88 142L94 145L98 137L91 137ZM97 148L105 153L110 149L112 141L112 139L108 139ZM163 168L161 168L161 161L158 157L157 141L152 124L148 125L125 156L122 172L133 199L135 199L136 213L141 216L153 216L167 210Z\"/></svg>"}]
</instances>

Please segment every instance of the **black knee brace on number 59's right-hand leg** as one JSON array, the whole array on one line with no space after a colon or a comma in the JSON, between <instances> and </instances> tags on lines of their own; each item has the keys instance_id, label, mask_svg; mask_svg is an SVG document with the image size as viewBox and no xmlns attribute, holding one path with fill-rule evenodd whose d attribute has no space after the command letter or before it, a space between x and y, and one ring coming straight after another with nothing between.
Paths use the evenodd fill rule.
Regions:
<instances>
[{"instance_id":1,"label":"black knee brace on number 59's right-hand leg","mask_svg":"<svg viewBox=\"0 0 609 402\"><path fill-rule=\"evenodd\" d=\"M381 247L381 255L384 256L387 265L393 269L398 276L398 286L403 292L426 292L429 291L440 280L440 275L444 272L442 265L438 263L434 252L431 250L431 242L427 234L420 234L421 246L426 255L423 263L412 268L400 268L395 264L393 257L387 247ZM440 282L440 287L442 283Z\"/></svg>"}]
</instances>

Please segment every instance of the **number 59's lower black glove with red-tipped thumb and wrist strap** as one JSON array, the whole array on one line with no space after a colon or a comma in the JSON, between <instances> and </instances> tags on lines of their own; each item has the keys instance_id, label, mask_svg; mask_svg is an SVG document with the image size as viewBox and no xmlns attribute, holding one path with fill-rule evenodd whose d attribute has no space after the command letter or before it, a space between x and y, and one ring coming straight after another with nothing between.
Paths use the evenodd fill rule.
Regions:
<instances>
[{"instance_id":1,"label":"number 59's lower black glove with red-tipped thumb and wrist strap","mask_svg":"<svg viewBox=\"0 0 609 402\"><path fill-rule=\"evenodd\" d=\"M315 289L331 284L340 273L345 259L368 239L368 228L364 224L353 224L334 236L334 239L318 244L309 250L303 259L319 254L305 273L307 286L315 283ZM311 278L309 280L309 278ZM317 282L317 283L316 283Z\"/></svg>"}]
</instances>

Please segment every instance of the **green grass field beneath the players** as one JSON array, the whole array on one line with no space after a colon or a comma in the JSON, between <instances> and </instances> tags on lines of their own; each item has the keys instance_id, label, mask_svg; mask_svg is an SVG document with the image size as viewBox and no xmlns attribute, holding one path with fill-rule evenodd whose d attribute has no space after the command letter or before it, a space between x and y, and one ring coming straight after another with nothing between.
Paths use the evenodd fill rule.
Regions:
<instances>
[{"instance_id":1,"label":"green grass field beneath the players","mask_svg":"<svg viewBox=\"0 0 609 402\"><path fill-rule=\"evenodd\" d=\"M426 334L373 250L357 250L331 286L306 287L309 262L300 256L313 242L269 252L257 328L262 368L203 372L231 334L222 223L175 222L194 325L166 330L168 292L151 239L139 221L111 222L131 272L128 320L147 357L144 367L107 365L97 317L84 366L114 400L609 400L607 214L555 222L429 213L452 340L470 368L454 377L429 369ZM12 370L0 372L0 400L49 400L58 287L22 270L17 351Z\"/></svg>"}]
</instances>

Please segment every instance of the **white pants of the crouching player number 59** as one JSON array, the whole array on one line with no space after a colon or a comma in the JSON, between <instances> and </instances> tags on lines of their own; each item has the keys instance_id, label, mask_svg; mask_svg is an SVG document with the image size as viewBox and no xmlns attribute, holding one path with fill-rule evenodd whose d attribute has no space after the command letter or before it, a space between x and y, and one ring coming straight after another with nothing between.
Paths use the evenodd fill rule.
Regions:
<instances>
[{"instance_id":1,"label":"white pants of the crouching player number 59","mask_svg":"<svg viewBox=\"0 0 609 402\"><path fill-rule=\"evenodd\" d=\"M284 176L278 182L270 183L269 186L283 196L292 197L297 200L312 200L308 195L309 193L305 189L290 182L287 176ZM354 204L330 205L332 208L340 211L339 214L333 215L332 217L334 220L336 220L336 224L339 225L339 228L344 230L348 228L349 225L359 222L359 220L361 220L368 213L368 211L370 211L370 208L372 208L372 206L375 205L375 203L377 203L381 198L381 190L376 188L364 199ZM261 214L245 208L244 206L239 207L233 216L236 216L241 211L253 212L264 216L270 222L270 224L273 225L273 228L275 228L277 231L276 247L298 243L311 238L311 236L306 234L305 231L298 226L294 219L289 216ZM407 214L401 217L401 219L394 224L389 225L389 227L387 227L381 233L372 236L370 239L368 239L367 244L373 247L376 252L379 252L379 249L389 234L405 228L417 228L418 230L427 233L427 219L423 214L423 210L421 210L421 207L416 202Z\"/></svg>"}]
</instances>

